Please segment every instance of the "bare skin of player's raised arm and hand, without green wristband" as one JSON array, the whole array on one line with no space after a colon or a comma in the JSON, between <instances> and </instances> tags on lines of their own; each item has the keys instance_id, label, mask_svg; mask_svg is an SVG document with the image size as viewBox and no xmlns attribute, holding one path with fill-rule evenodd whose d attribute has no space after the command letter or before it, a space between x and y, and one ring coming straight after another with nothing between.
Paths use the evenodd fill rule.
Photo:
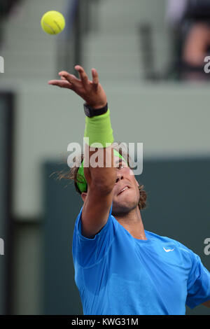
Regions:
<instances>
[{"instance_id":1,"label":"bare skin of player's raised arm and hand, without green wristband","mask_svg":"<svg viewBox=\"0 0 210 329\"><path fill-rule=\"evenodd\" d=\"M97 70L92 69L91 81L88 80L87 73L82 66L76 65L75 69L78 71L80 79L66 71L61 71L59 72L60 80L50 80L48 84L73 90L94 109L104 107L107 99L104 89L99 83ZM104 153L104 162L111 157L111 167L84 167L88 193L82 193L84 201L82 233L89 238L94 237L106 225L113 199L116 168L113 167L113 151L106 152L107 149L102 148L100 152ZM92 151L87 145L85 146L85 154L89 153L89 158L96 151Z\"/></svg>"}]
</instances>

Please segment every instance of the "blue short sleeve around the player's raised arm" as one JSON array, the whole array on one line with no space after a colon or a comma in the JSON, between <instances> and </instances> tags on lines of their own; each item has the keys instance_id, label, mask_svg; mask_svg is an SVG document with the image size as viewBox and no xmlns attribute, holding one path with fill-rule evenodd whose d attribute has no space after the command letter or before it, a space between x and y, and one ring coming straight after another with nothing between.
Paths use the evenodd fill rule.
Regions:
<instances>
[{"instance_id":1,"label":"blue short sleeve around the player's raised arm","mask_svg":"<svg viewBox=\"0 0 210 329\"><path fill-rule=\"evenodd\" d=\"M113 242L116 232L116 219L111 215L111 209L109 211L109 218L106 225L100 230L97 235L92 239L84 237L81 233L81 215L82 210L76 218L75 228L73 231L73 262L77 262L81 267L91 267L99 262L106 253L109 252L109 248Z\"/></svg>"}]
</instances>

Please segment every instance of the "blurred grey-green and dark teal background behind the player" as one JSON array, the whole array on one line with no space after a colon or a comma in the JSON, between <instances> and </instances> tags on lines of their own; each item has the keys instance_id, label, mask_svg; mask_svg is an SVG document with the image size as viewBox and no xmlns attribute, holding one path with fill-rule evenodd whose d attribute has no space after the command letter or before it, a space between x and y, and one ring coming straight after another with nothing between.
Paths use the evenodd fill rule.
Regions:
<instances>
[{"instance_id":1,"label":"blurred grey-green and dark teal background behind the player","mask_svg":"<svg viewBox=\"0 0 210 329\"><path fill-rule=\"evenodd\" d=\"M66 28L43 32L48 10ZM67 170L83 145L83 100L48 85L99 72L116 141L144 144L146 230L200 255L210 237L210 1L0 0L0 314L82 314L71 242L82 205ZM206 307L187 314L209 314Z\"/></svg>"}]
</instances>

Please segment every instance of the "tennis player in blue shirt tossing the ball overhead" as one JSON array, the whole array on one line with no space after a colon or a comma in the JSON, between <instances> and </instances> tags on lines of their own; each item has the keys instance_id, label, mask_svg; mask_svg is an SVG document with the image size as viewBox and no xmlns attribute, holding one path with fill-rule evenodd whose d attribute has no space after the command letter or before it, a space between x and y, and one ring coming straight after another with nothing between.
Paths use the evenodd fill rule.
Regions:
<instances>
[{"instance_id":1,"label":"tennis player in blue shirt tossing the ball overhead","mask_svg":"<svg viewBox=\"0 0 210 329\"><path fill-rule=\"evenodd\" d=\"M198 255L178 241L144 230L140 210L146 196L129 162L113 151L109 109L97 71L92 69L90 81L81 66L75 69L80 79L61 71L61 80L49 84L69 88L86 102L85 137L90 140L82 164L70 175L84 202L73 232L75 279L84 314L185 314L186 304L210 307L210 274ZM101 147L90 147L97 142ZM96 153L103 166L91 164Z\"/></svg>"}]
</instances>

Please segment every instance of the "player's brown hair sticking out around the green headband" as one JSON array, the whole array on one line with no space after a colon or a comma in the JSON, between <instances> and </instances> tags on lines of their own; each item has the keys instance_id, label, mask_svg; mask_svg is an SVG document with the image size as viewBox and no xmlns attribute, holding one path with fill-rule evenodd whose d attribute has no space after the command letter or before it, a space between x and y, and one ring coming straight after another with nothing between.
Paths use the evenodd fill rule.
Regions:
<instances>
[{"instance_id":1,"label":"player's brown hair sticking out around the green headband","mask_svg":"<svg viewBox=\"0 0 210 329\"><path fill-rule=\"evenodd\" d=\"M113 148L115 148L120 155L123 155L125 158L127 158L127 164L130 166L130 163L132 162L130 155L128 152L126 152L126 156L125 156L125 150L123 150L122 148L116 148L113 146ZM73 158L73 167L71 167L71 169L69 169L67 172L59 172L58 173L58 178L59 179L69 179L71 181L74 182L74 186L76 188L76 192L78 192L80 195L82 194L81 191L79 190L78 186L77 186L77 182L80 183L80 176L78 175L78 169L79 169L79 165L80 163L83 162L83 158L84 155L83 153L81 155L78 155L77 157ZM81 177L82 179L82 177ZM144 208L146 208L146 198L147 198L147 194L144 190L144 185L140 185L139 186L139 209L142 210Z\"/></svg>"}]
</instances>

